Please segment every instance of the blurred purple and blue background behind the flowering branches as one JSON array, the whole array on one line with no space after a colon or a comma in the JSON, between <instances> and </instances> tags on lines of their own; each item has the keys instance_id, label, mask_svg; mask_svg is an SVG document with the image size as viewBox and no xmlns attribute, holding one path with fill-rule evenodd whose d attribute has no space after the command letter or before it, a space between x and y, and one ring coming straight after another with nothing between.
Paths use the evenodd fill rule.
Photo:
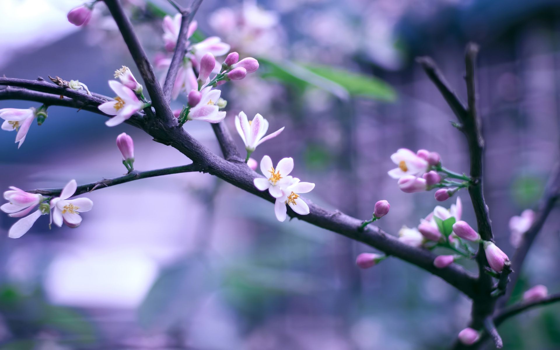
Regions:
<instances>
[{"instance_id":1,"label":"blurred purple and blue background behind the flowering branches","mask_svg":"<svg viewBox=\"0 0 560 350\"><path fill-rule=\"evenodd\" d=\"M187 0L178 0L188 4ZM123 1L148 55L161 54L166 1ZM81 1L0 2L0 74L79 79L113 96L122 65L139 79L103 3L85 27L66 20ZM258 6L258 7L256 7ZM218 35L261 67L223 86L225 123L262 114L286 130L253 153L291 156L309 197L395 234L438 202L405 194L387 175L398 148L439 152L468 171L451 110L414 59L430 55L465 95L464 46L481 47L479 111L486 137L485 192L497 244L508 255L510 217L535 209L559 157L560 3L554 0L205 0L197 36ZM162 76L165 72L159 72ZM185 104L184 97L174 107ZM38 107L0 101L0 108ZM188 164L130 125L107 128L87 111L49 108L18 150L0 132L0 188L62 187L123 175L115 138L136 144L137 170ZM219 152L208 123L188 132ZM474 225L466 192L463 220ZM2 349L445 349L469 320L470 302L440 278L398 259L360 270L374 251L297 220L207 174L133 181L87 195L82 225L53 230L41 217L20 239L0 216ZM450 206L455 199L444 203ZM560 288L558 210L530 251L514 300L534 284ZM472 265L466 268L473 269ZM474 270L474 269L473 269ZM560 348L560 306L500 327L506 349Z\"/></svg>"}]
</instances>

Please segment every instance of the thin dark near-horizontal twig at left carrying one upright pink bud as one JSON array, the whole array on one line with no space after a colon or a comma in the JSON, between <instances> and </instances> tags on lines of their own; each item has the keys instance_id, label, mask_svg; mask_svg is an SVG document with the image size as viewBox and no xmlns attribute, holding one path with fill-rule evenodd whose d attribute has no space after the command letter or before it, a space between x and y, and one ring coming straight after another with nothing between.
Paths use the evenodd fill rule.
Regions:
<instances>
[{"instance_id":1,"label":"thin dark near-horizontal twig at left carrying one upright pink bud","mask_svg":"<svg viewBox=\"0 0 560 350\"><path fill-rule=\"evenodd\" d=\"M119 178L103 179L91 184L80 185L76 189L74 196L83 193L92 192L94 190L105 188L105 187L128 183L134 180L153 178L154 176L180 174L181 172L193 172L193 171L202 171L202 170L203 169L201 166L193 163L188 165L166 167L164 169L156 169L156 170L148 170L148 171L132 171L130 172L130 174L120 176ZM28 190L27 192L39 193L48 196L57 196L60 195L60 192L62 192L62 188L35 189L35 190Z\"/></svg>"}]
</instances>

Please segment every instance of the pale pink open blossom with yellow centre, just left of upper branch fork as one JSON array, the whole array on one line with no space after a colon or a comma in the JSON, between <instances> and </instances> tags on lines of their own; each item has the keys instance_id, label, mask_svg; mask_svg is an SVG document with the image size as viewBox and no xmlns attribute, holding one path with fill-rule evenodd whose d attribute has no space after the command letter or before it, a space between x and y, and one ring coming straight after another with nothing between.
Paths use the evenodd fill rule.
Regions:
<instances>
[{"instance_id":1,"label":"pale pink open blossom with yellow centre, just left of upper branch fork","mask_svg":"<svg viewBox=\"0 0 560 350\"><path fill-rule=\"evenodd\" d=\"M117 95L115 101L105 102L97 107L105 114L114 115L113 118L105 122L108 127L123 123L134 113L144 108L144 102L138 100L138 97L130 88L115 80L110 80L109 86Z\"/></svg>"}]
</instances>

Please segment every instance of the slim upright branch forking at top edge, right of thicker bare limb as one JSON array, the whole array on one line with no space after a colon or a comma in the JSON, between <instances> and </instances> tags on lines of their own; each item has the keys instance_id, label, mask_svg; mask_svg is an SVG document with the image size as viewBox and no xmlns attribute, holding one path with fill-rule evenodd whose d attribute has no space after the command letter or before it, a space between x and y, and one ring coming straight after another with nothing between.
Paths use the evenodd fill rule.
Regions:
<instances>
[{"instance_id":1,"label":"slim upright branch forking at top edge, right of thicker bare limb","mask_svg":"<svg viewBox=\"0 0 560 350\"><path fill-rule=\"evenodd\" d=\"M171 64L167 70L167 76L165 77L164 96L167 102L171 101L171 90L173 90L179 66L183 63L183 59L185 57L186 43L189 39L187 38L187 35L189 32L190 22L192 22L193 17L195 13L197 13L198 7L200 7L201 3L202 0L194 0L189 8L183 10L178 4L171 2L171 4L181 13L181 28L179 30L177 44L175 45L175 52L173 53L173 58L171 59Z\"/></svg>"}]
</instances>

